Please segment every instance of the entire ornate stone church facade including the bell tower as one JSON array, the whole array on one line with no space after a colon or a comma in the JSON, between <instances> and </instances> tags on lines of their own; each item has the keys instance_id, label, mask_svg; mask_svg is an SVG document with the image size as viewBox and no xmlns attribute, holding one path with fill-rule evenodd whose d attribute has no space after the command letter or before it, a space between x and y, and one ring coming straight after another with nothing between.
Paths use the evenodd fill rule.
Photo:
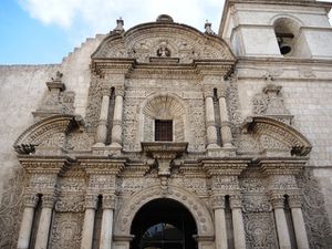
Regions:
<instances>
[{"instance_id":1,"label":"entire ornate stone church facade including the bell tower","mask_svg":"<svg viewBox=\"0 0 332 249\"><path fill-rule=\"evenodd\" d=\"M332 4L226 0L0 66L1 249L332 248Z\"/></svg>"}]
</instances>

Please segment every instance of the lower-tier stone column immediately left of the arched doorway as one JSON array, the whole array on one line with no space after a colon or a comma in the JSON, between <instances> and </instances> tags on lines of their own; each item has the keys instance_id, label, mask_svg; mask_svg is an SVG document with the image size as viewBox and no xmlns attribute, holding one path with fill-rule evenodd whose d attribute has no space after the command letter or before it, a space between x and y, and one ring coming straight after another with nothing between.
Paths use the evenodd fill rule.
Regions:
<instances>
[{"instance_id":1,"label":"lower-tier stone column immediately left of the arched doorway","mask_svg":"<svg viewBox=\"0 0 332 249\"><path fill-rule=\"evenodd\" d=\"M113 212L115 208L115 196L103 196L103 220L101 230L100 249L112 248Z\"/></svg>"}]
</instances>

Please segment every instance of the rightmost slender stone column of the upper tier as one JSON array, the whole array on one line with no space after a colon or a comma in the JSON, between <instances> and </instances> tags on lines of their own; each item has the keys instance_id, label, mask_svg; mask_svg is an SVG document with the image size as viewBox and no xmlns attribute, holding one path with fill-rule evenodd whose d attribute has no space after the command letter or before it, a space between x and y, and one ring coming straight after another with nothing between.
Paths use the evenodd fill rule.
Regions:
<instances>
[{"instance_id":1,"label":"rightmost slender stone column of the upper tier","mask_svg":"<svg viewBox=\"0 0 332 249\"><path fill-rule=\"evenodd\" d=\"M232 135L230 129L230 122L226 104L226 90L218 89L219 111L220 111L220 134L222 147L232 147Z\"/></svg>"}]
</instances>

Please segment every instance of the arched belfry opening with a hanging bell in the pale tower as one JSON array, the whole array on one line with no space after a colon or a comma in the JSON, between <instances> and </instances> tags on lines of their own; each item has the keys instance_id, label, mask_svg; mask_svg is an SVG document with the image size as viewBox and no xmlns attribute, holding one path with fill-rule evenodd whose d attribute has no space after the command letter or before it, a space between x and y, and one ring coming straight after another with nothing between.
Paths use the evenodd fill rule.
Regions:
<instances>
[{"instance_id":1,"label":"arched belfry opening with a hanging bell in the pale tower","mask_svg":"<svg viewBox=\"0 0 332 249\"><path fill-rule=\"evenodd\" d=\"M281 55L284 58L304 58L308 45L300 35L302 24L290 17L280 17L273 22L274 33Z\"/></svg>"}]
</instances>

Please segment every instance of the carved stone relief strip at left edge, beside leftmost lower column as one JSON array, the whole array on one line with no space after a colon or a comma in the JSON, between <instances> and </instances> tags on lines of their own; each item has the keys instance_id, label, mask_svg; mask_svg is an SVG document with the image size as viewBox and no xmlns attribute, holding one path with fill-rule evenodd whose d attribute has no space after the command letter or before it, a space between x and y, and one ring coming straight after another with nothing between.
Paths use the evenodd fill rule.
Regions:
<instances>
[{"instance_id":1,"label":"carved stone relief strip at left edge, beside leftmost lower column","mask_svg":"<svg viewBox=\"0 0 332 249\"><path fill-rule=\"evenodd\" d=\"M15 249L18 231L23 212L22 197L25 183L23 170L13 169L13 176L3 183L3 196L0 203L0 248Z\"/></svg>"}]
</instances>

